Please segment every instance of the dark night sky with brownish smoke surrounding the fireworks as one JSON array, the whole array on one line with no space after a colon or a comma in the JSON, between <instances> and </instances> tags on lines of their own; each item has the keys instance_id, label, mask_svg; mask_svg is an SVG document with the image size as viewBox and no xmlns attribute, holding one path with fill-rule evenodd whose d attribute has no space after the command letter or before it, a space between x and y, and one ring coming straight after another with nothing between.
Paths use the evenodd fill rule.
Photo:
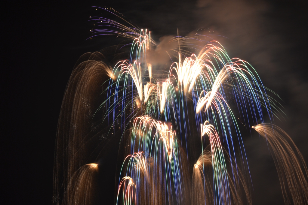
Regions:
<instances>
[{"instance_id":1,"label":"dark night sky with brownish smoke surrounding the fireworks","mask_svg":"<svg viewBox=\"0 0 308 205\"><path fill-rule=\"evenodd\" d=\"M190 2L190 3L188 3ZM229 56L248 61L278 93L287 118L275 120L308 163L307 1L33 2L3 6L2 193L7 204L51 204L55 133L66 83L78 58L114 41L90 37L91 6L112 7L156 39L204 27ZM102 17L111 18L102 12ZM114 19L116 20L116 19ZM3 134L4 133L4 134ZM282 204L266 143L244 144L254 186L253 204ZM10 196L10 197L9 197Z\"/></svg>"}]
</instances>

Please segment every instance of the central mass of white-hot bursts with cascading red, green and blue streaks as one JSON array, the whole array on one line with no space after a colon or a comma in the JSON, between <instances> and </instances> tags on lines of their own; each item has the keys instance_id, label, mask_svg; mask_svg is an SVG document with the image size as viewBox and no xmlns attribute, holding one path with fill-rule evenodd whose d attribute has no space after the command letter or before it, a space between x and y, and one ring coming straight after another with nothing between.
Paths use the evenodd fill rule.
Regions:
<instances>
[{"instance_id":1,"label":"central mass of white-hot bursts with cascading red, green and blue streaks","mask_svg":"<svg viewBox=\"0 0 308 205\"><path fill-rule=\"evenodd\" d=\"M180 47L183 38L176 37L171 41L178 41ZM119 182L117 204L186 202L185 195L189 191L183 178L187 177L185 173L188 170L184 170L188 168L183 163L185 159L180 141L187 142L189 137L197 137L188 136L189 124L199 124L195 129L199 130L202 149L202 138L209 138L213 203L239 201L231 199L229 191L230 184L235 183L232 182L236 178L234 175L238 174L233 170L233 176L228 176L225 158L229 157L232 161L236 157L233 130L239 144L242 142L227 98L232 97L240 105L238 109L251 113L255 121L263 118L262 105L272 117L270 110L275 108L274 101L266 95L265 88L253 75L249 64L240 59L230 59L216 41L208 43L198 55L183 57L178 52L177 61L172 63L166 78L155 76L151 56L148 56L152 42L150 32L141 30L139 37L133 40L130 59L118 62L112 72L108 71L111 80L108 98L103 103L107 104L106 117L113 116L114 123L120 121L123 132L131 127L130 140L125 146L130 149L130 154L122 166L121 175L125 176ZM187 112L190 103L193 104L194 118ZM127 110L131 111L126 114ZM188 119L196 122L189 123ZM128 123L132 120L132 124ZM175 124L177 132L170 124ZM221 136L215 128L217 124L221 128ZM227 152L224 152L221 137L228 146ZM241 150L242 157L245 157L244 148L241 147ZM206 157L201 155L201 159ZM206 183L203 174L195 174L203 172L203 166L203 160L197 162L193 176L204 179L203 183ZM193 191L195 189L203 190L201 196L195 197L205 195L204 186L193 187Z\"/></svg>"}]
</instances>

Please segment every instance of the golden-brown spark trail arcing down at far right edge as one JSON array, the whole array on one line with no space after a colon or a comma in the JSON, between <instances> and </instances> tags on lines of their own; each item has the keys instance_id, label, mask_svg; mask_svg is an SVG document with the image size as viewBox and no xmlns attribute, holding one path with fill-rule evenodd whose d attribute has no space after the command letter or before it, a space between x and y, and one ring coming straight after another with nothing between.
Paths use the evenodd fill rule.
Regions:
<instances>
[{"instance_id":1,"label":"golden-brown spark trail arcing down at far right edge","mask_svg":"<svg viewBox=\"0 0 308 205\"><path fill-rule=\"evenodd\" d=\"M252 126L270 145L285 204L308 203L308 170L291 137L274 124ZM292 200L290 199L292 198Z\"/></svg>"}]
</instances>

